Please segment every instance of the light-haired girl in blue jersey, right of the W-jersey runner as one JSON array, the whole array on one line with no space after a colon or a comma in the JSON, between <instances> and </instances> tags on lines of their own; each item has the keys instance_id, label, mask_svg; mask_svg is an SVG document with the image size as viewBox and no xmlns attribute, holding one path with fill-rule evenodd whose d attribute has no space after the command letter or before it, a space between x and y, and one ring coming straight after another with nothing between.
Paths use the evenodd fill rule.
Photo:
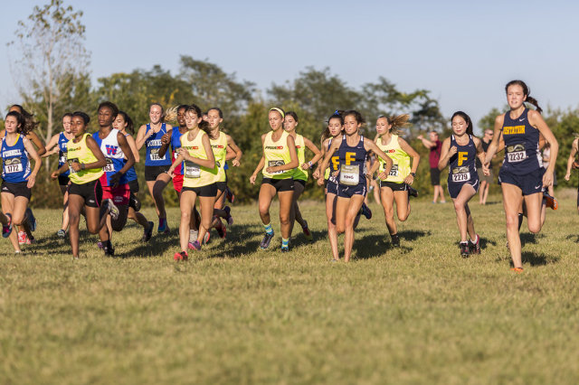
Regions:
<instances>
[{"instance_id":1,"label":"light-haired girl in blue jersey, right of the W-jersey runner","mask_svg":"<svg viewBox=\"0 0 579 385\"><path fill-rule=\"evenodd\" d=\"M163 190L171 181L167 171L171 167L171 156L159 154L162 146L162 138L169 134L173 127L165 123L165 109L159 103L152 103L148 108L148 116L151 121L138 128L137 148L147 148L145 158L145 181L148 192L155 202L159 226L157 232L166 233L169 227L166 223L165 200Z\"/></svg>"}]
</instances>

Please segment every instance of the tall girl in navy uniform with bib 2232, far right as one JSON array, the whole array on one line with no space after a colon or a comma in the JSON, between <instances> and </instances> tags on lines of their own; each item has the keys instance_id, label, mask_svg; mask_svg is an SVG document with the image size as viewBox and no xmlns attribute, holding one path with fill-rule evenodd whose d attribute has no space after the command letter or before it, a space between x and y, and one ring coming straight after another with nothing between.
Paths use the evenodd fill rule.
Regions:
<instances>
[{"instance_id":1,"label":"tall girl in navy uniform with bib 2232, far right","mask_svg":"<svg viewBox=\"0 0 579 385\"><path fill-rule=\"evenodd\" d=\"M502 136L505 141L505 161L498 173L498 181L503 191L503 206L507 217L507 239L513 268L523 271L521 260L521 239L518 235L518 211L524 201L527 207L528 230L541 230L541 207L543 187L553 183L553 171L559 145L541 117L542 109L536 99L529 96L527 84L522 80L512 80L505 87L510 110L495 119L495 134L486 155L486 164L498 149ZM528 109L525 102L536 110ZM544 171L539 152L539 133L551 145L551 163Z\"/></svg>"}]
</instances>

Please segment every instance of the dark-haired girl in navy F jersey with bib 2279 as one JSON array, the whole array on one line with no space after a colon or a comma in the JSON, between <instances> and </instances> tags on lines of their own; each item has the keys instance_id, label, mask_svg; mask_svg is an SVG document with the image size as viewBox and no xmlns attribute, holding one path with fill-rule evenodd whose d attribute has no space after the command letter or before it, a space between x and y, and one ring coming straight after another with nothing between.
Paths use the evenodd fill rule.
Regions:
<instances>
[{"instance_id":1,"label":"dark-haired girl in navy F jersey with bib 2279","mask_svg":"<svg viewBox=\"0 0 579 385\"><path fill-rule=\"evenodd\" d=\"M476 156L479 156L482 173L489 175L489 167L484 164L485 153L478 137L472 136L472 121L462 111L452 114L452 136L442 142L439 170L448 164L448 189L454 202L456 221L460 231L460 255L480 253L480 237L474 230L474 221L470 215L469 201L479 191L479 174L477 174ZM467 239L467 233L470 239Z\"/></svg>"}]
</instances>

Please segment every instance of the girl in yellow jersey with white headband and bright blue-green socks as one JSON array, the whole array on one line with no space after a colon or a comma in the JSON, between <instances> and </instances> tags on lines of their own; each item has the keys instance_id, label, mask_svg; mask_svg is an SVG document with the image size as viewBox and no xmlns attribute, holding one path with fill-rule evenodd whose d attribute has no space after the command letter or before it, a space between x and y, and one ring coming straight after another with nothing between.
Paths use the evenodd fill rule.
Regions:
<instances>
[{"instance_id":1,"label":"girl in yellow jersey with white headband and bright blue-green socks","mask_svg":"<svg viewBox=\"0 0 579 385\"><path fill-rule=\"evenodd\" d=\"M293 199L293 169L298 167L298 154L293 136L283 130L285 112L281 108L271 108L268 114L271 131L261 136L263 156L255 168L250 182L255 184L257 174L261 171L263 179L260 188L260 216L265 229L265 235L261 240L261 249L267 249L273 238L271 228L270 206L271 200L278 194L280 200L280 227L281 227L281 252L289 251L289 235L291 223L289 216ZM267 162L267 164L266 164Z\"/></svg>"}]
</instances>

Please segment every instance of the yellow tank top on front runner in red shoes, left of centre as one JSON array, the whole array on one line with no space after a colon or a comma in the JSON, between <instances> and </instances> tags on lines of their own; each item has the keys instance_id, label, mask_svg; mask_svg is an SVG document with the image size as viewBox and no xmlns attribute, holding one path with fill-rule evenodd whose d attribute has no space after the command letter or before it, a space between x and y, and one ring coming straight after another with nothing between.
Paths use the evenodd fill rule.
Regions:
<instances>
[{"instance_id":1,"label":"yellow tank top on front runner in red shoes, left of centre","mask_svg":"<svg viewBox=\"0 0 579 385\"><path fill-rule=\"evenodd\" d=\"M199 130L195 139L189 140L189 133L181 136L181 147L189 152L189 155L199 159L207 159L202 138L205 136L203 130ZM183 185L185 187L202 187L215 183L217 167L207 168L194 162L185 161L183 169Z\"/></svg>"}]
</instances>

